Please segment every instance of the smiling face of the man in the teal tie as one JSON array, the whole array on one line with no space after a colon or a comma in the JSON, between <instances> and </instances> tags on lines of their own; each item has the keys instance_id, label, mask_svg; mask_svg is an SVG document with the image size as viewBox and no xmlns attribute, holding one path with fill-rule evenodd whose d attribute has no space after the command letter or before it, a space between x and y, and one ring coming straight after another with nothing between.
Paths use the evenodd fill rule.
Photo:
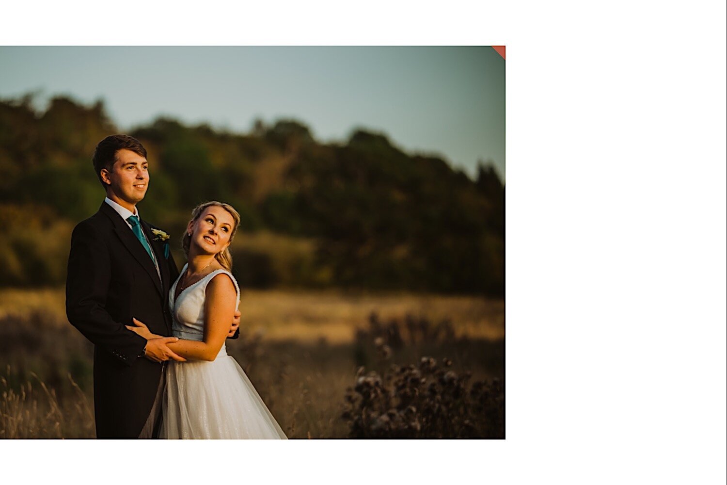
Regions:
<instances>
[{"instance_id":1,"label":"smiling face of the man in the teal tie","mask_svg":"<svg viewBox=\"0 0 727 485\"><path fill-rule=\"evenodd\" d=\"M123 148L116 152L111 172L102 169L101 177L111 192L109 199L122 206L135 206L144 199L149 186L148 161L138 153Z\"/></svg>"}]
</instances>

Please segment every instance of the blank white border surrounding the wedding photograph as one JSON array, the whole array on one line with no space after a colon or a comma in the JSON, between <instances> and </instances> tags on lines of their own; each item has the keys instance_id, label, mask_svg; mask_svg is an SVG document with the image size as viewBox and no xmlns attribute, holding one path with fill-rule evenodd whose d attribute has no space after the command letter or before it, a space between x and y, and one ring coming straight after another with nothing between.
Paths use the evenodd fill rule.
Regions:
<instances>
[{"instance_id":1,"label":"blank white border surrounding the wedding photograph","mask_svg":"<svg viewBox=\"0 0 727 485\"><path fill-rule=\"evenodd\" d=\"M0 44L507 45L507 438L4 441L4 476L725 483L723 1L236 5L14 2Z\"/></svg>"}]
</instances>

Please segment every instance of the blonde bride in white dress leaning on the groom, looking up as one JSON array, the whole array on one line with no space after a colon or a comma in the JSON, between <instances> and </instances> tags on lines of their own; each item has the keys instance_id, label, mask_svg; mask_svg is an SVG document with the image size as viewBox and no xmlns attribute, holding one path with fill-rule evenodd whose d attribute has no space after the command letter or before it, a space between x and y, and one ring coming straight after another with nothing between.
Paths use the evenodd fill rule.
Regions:
<instances>
[{"instance_id":1,"label":"blonde bride in white dress leaning on the groom, looking up","mask_svg":"<svg viewBox=\"0 0 727 485\"><path fill-rule=\"evenodd\" d=\"M169 361L161 398L160 438L283 438L252 383L225 350L240 289L228 246L240 223L229 204L212 201L192 212L182 241L187 264L169 290L174 337L169 348L188 359ZM126 328L147 339L142 322Z\"/></svg>"}]
</instances>

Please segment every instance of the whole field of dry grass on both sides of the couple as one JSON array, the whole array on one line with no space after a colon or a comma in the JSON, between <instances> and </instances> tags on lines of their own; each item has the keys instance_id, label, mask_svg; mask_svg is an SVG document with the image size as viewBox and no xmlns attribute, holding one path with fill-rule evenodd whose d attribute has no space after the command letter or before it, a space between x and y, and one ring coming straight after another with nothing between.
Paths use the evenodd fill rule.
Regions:
<instances>
[{"instance_id":1,"label":"whole field of dry grass on both sides of the couple","mask_svg":"<svg viewBox=\"0 0 727 485\"><path fill-rule=\"evenodd\" d=\"M62 288L0 290L0 438L94 436L92 345L68 324L64 298ZM473 379L505 377L502 301L276 290L245 291L240 308L243 332L228 351L291 438L348 436L341 414L361 366L382 372L433 356ZM401 326L387 356L374 345L371 313ZM407 333L407 315L432 328L448 320L449 334Z\"/></svg>"}]
</instances>

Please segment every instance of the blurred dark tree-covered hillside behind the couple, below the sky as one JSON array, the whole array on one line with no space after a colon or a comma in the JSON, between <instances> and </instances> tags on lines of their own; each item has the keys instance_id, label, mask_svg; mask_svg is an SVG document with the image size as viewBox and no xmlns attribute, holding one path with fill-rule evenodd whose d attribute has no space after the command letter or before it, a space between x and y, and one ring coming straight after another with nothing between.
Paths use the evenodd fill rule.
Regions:
<instances>
[{"instance_id":1,"label":"blurred dark tree-covered hillside behind the couple, below the sky","mask_svg":"<svg viewBox=\"0 0 727 485\"><path fill-rule=\"evenodd\" d=\"M92 153L115 132L102 101L0 100L0 285L63 283L73 225L104 197ZM142 217L179 235L201 201L238 209L246 286L504 293L505 187L491 166L471 180L385 135L324 145L291 119L244 135L160 118L129 135L150 160Z\"/></svg>"}]
</instances>

